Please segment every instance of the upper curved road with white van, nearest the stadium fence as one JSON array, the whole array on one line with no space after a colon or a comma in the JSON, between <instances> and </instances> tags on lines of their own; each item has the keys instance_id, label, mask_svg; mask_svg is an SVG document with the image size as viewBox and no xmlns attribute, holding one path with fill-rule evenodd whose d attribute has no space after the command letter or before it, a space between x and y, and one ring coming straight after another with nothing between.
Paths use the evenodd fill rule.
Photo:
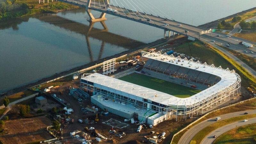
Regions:
<instances>
[{"instance_id":1,"label":"upper curved road with white van, nearest the stadium fence","mask_svg":"<svg viewBox=\"0 0 256 144\"><path fill-rule=\"evenodd\" d=\"M178 144L189 144L190 140L196 135L197 132L201 131L203 128L216 123L215 121L216 117L221 117L221 120L229 119L232 117L237 117L237 116L242 116L244 115L245 112L248 112L249 114L256 114L256 110L246 110L246 111L239 111L239 112L234 112L234 113L228 113L220 116L215 116L213 118L209 118L199 124L196 124L192 128L190 128L187 132L185 132L182 137L180 138L180 141ZM219 121L218 121L219 122Z\"/></svg>"}]
</instances>

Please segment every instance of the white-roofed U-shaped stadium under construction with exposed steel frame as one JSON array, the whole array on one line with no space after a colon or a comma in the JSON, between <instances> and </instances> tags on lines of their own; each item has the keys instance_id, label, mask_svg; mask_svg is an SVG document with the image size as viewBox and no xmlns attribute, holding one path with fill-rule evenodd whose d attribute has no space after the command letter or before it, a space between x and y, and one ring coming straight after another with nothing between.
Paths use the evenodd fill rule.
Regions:
<instances>
[{"instance_id":1,"label":"white-roofed U-shaped stadium under construction with exposed steel frame","mask_svg":"<svg viewBox=\"0 0 256 144\"><path fill-rule=\"evenodd\" d=\"M241 79L234 70L153 50L142 52L142 55L148 61L140 73L168 81L197 84L202 91L188 98L178 98L98 73L84 74L81 88L94 93L91 101L100 108L152 125L172 116L176 116L176 120L177 116L183 116L184 119L193 117L240 92Z\"/></svg>"}]
</instances>

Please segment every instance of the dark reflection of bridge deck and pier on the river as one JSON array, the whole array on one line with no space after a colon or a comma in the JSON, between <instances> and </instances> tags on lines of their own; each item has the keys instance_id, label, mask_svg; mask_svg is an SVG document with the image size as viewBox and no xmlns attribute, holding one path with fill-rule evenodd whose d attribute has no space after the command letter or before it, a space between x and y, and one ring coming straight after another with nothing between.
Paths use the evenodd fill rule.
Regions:
<instances>
[{"instance_id":1,"label":"dark reflection of bridge deck and pier on the river","mask_svg":"<svg viewBox=\"0 0 256 144\"><path fill-rule=\"evenodd\" d=\"M60 28L70 30L72 32L84 35L91 61L94 61L94 59L93 59L92 47L90 44L90 37L101 41L98 60L102 58L105 43L124 47L126 49L133 49L145 44L143 42L140 42L128 37L124 37L124 36L120 36L120 35L108 32L108 27L105 23L105 20L97 21L97 22L100 22L100 24L103 27L103 29L98 29L98 28L93 28L96 22L90 22L89 26L87 26L85 24L60 17L57 14L41 14L41 15L36 15L33 18L47 22L54 26L58 26Z\"/></svg>"}]
</instances>

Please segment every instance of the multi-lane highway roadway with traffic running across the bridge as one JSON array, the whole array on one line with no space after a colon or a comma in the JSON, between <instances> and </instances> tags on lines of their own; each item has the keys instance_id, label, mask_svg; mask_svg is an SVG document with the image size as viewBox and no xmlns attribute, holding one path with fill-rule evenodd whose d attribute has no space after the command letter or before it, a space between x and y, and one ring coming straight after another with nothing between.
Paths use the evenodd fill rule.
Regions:
<instances>
[{"instance_id":1,"label":"multi-lane highway roadway with traffic running across the bridge","mask_svg":"<svg viewBox=\"0 0 256 144\"><path fill-rule=\"evenodd\" d=\"M86 2L85 0L61 0L63 2L68 2L75 5L79 5L82 7L86 6ZM108 8L108 7L107 7ZM99 11L99 12L105 12L111 15L115 15L115 16L119 16L125 19L129 19L129 20L133 20L136 22L140 22L140 23L144 23L144 24L148 24L150 26L153 27L157 27L157 28L161 28L161 29L165 29L165 30L171 30L174 31L176 33L180 33L181 35L186 35L185 34L185 30L189 31L187 33L188 36L194 37L194 38L199 38L199 32L201 31L205 31L204 28L199 28L196 26L191 26L188 24L184 24L184 23L180 23L174 20L168 20L165 18L161 18L158 16L154 16L154 15L150 15L150 14L143 14L142 12L127 12L124 8L120 8L117 6L113 6L110 5L109 8L115 9L118 11L118 13L114 13L111 11L107 11L107 9L105 8L105 5L103 3L99 3L99 2L93 2L93 4L91 4L90 9L95 10L95 11ZM151 21L148 21L151 20ZM168 26L164 26L164 24L169 24ZM181 24L179 26L179 24ZM238 38L238 37L227 37L225 34L223 33L212 33L212 34L204 34L200 36L200 39L204 38L207 41L206 42L211 42L212 40L215 41L216 44L222 45L222 46L226 46L226 44L230 43L231 46L229 47L232 50L235 50L237 52L241 52L244 53L250 57L254 57L256 58L256 43L255 42L251 42L242 38ZM253 45L255 45L253 48L247 48L243 45L240 45L239 42L244 41L247 43L251 43ZM244 52L244 50L246 50L247 52ZM250 53L250 51L252 51L253 53Z\"/></svg>"}]
</instances>

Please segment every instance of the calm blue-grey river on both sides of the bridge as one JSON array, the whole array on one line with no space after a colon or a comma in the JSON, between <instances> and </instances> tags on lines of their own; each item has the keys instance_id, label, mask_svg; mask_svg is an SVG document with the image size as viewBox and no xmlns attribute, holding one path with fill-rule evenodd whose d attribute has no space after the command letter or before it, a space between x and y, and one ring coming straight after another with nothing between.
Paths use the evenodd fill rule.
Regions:
<instances>
[{"instance_id":1,"label":"calm blue-grey river on both sides of the bridge","mask_svg":"<svg viewBox=\"0 0 256 144\"><path fill-rule=\"evenodd\" d=\"M148 0L170 18L201 25L255 7L255 0ZM92 12L99 16L99 12ZM163 30L106 15L90 23L84 9L0 22L0 92L163 37Z\"/></svg>"}]
</instances>

